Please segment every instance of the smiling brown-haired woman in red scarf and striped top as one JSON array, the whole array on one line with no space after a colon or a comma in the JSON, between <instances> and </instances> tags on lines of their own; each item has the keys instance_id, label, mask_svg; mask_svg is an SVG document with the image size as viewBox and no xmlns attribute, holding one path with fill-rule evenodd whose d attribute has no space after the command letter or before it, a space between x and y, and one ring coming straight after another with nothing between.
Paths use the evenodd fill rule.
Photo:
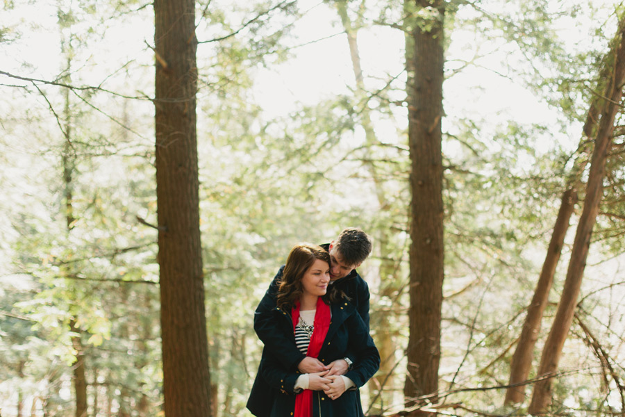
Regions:
<instances>
[{"instance_id":1,"label":"smiling brown-haired woman in red scarf and striped top","mask_svg":"<svg viewBox=\"0 0 625 417\"><path fill-rule=\"evenodd\" d=\"M330 256L322 247L301 244L289 253L278 289L274 319L306 356L322 363L358 358L345 375L302 375L263 350L247 408L258 417L364 416L358 387L374 375L380 356L356 306L328 288ZM267 390L267 386L270 390Z\"/></svg>"}]
</instances>

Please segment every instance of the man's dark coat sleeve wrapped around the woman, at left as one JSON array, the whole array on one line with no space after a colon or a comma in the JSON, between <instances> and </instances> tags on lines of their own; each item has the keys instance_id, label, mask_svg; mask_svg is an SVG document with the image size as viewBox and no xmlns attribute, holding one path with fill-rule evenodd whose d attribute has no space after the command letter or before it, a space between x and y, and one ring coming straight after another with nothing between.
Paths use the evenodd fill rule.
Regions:
<instances>
[{"instance_id":1,"label":"man's dark coat sleeve wrapped around the woman, at left","mask_svg":"<svg viewBox=\"0 0 625 417\"><path fill-rule=\"evenodd\" d=\"M284 268L284 267L283 267ZM280 362L287 370L295 371L302 359L306 357L301 353L292 341L289 341L280 329L280 323L276 320L274 309L276 308L276 294L278 293L278 280L282 277L280 268L276 277L269 285L269 289L260 300L260 304L254 311L254 331L263 342L265 347L280 358Z\"/></svg>"}]
</instances>

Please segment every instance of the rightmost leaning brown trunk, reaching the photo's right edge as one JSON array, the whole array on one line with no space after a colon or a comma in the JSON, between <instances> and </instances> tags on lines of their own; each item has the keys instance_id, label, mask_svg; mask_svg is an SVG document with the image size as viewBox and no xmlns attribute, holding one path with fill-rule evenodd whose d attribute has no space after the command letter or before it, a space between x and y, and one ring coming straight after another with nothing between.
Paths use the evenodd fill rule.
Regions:
<instances>
[{"instance_id":1,"label":"rightmost leaning brown trunk, reaching the photo's right edge","mask_svg":"<svg viewBox=\"0 0 625 417\"><path fill-rule=\"evenodd\" d=\"M606 104L602 106L603 111L601 112L599 129L597 129L597 137L594 140L594 151L590 161L584 208L573 243L567 278L562 296L560 297L560 304L558 304L556 318L553 320L551 331L542 350L540 367L538 368L537 376L547 378L535 384L531 404L528 409L533 415L547 411L551 402L551 376L558 370L562 347L573 321L586 257L590 247L592 229L599 211L607 153L612 142L614 120L622 98L623 81L625 79L625 19L619 22L617 44L618 47L615 48L616 54L612 63L614 72L608 88L606 88Z\"/></svg>"}]
</instances>

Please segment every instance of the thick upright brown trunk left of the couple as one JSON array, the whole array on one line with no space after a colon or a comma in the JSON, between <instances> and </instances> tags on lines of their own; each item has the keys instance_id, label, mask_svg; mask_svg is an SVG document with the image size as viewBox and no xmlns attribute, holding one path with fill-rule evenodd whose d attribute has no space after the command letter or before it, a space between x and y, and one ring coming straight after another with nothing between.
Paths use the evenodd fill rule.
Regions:
<instances>
[{"instance_id":1,"label":"thick upright brown trunk left of the couple","mask_svg":"<svg viewBox=\"0 0 625 417\"><path fill-rule=\"evenodd\" d=\"M154 2L156 196L165 416L211 416L199 231L193 0Z\"/></svg>"}]
</instances>

